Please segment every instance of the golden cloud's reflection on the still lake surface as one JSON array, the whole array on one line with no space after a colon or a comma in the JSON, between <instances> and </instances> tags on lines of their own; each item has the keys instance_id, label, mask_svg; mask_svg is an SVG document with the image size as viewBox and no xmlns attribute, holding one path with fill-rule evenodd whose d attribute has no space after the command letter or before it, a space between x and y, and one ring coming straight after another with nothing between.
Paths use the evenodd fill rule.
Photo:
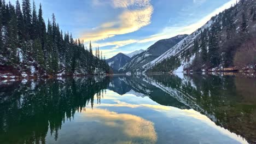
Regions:
<instances>
[{"instance_id":1,"label":"golden cloud's reflection on the still lake surface","mask_svg":"<svg viewBox=\"0 0 256 144\"><path fill-rule=\"evenodd\" d=\"M139 140L140 143L156 143L158 139L154 123L135 115L103 109L86 109L84 116L85 121L97 122L107 127L105 129L110 132L111 139L108 139L108 134L104 134L105 143L114 142L111 141L113 137L118 139L114 143L133 143L133 140Z\"/></svg>"}]
</instances>

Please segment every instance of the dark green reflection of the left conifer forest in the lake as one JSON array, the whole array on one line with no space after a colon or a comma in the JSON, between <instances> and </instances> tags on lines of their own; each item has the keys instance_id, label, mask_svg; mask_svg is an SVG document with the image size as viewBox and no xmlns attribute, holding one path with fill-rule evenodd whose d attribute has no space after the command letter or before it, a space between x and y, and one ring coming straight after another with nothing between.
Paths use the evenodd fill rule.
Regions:
<instances>
[{"instance_id":1,"label":"dark green reflection of the left conifer forest in the lake","mask_svg":"<svg viewBox=\"0 0 256 144\"><path fill-rule=\"evenodd\" d=\"M48 128L57 140L62 123L93 106L95 93L100 95L108 82L108 77L87 77L2 85L0 143L45 143Z\"/></svg>"}]
</instances>

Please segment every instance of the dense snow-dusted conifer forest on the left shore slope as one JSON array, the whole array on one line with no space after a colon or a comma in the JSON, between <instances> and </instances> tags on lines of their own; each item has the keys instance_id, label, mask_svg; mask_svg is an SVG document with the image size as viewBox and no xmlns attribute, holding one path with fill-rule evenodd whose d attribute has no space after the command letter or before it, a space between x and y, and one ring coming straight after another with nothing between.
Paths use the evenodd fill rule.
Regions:
<instances>
[{"instance_id":1,"label":"dense snow-dusted conifer forest on the left shore slope","mask_svg":"<svg viewBox=\"0 0 256 144\"><path fill-rule=\"evenodd\" d=\"M46 26L47 25L47 26ZM62 32L53 14L45 23L42 5L0 1L0 77L100 75L109 67L96 48Z\"/></svg>"}]
</instances>

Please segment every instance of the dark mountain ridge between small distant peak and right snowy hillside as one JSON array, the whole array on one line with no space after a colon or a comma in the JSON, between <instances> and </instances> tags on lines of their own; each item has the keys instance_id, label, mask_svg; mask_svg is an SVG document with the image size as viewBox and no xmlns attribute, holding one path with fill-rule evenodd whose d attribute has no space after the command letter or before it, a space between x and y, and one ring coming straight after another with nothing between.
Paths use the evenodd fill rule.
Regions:
<instances>
[{"instance_id":1,"label":"dark mountain ridge between small distant peak and right snowy hillside","mask_svg":"<svg viewBox=\"0 0 256 144\"><path fill-rule=\"evenodd\" d=\"M171 49L174 45L179 43L182 39L187 37L187 35L177 35L176 37L170 39L163 39L157 41L155 44L150 46L147 50L138 55L132 57L131 62L127 63L123 68L120 68L121 73L137 71L148 62L153 61L155 58L158 58L162 53Z\"/></svg>"}]
</instances>

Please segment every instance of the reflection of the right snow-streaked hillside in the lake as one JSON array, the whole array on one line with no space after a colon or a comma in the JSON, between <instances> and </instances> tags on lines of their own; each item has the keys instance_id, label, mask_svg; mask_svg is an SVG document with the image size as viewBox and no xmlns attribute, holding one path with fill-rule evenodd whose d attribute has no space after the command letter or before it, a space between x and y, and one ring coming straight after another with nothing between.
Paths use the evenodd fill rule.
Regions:
<instances>
[{"instance_id":1,"label":"reflection of the right snow-streaked hillside in the lake","mask_svg":"<svg viewBox=\"0 0 256 144\"><path fill-rule=\"evenodd\" d=\"M248 77L249 76L249 77ZM253 77L252 77L253 76ZM133 93L161 105L194 109L220 127L256 142L256 79L247 74L193 74L114 77ZM109 89L117 91L113 80ZM123 84L124 85L124 84ZM120 85L122 86L122 85ZM125 86L127 87L127 86ZM120 89L120 88L119 88Z\"/></svg>"}]
</instances>

